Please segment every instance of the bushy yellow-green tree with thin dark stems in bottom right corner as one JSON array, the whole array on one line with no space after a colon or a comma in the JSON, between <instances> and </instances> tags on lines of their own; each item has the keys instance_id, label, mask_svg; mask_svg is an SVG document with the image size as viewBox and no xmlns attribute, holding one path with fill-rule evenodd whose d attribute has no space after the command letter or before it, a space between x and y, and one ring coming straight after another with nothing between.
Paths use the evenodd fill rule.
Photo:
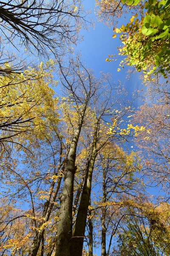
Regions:
<instances>
[{"instance_id":1,"label":"bushy yellow-green tree with thin dark stems in bottom right corner","mask_svg":"<svg viewBox=\"0 0 170 256\"><path fill-rule=\"evenodd\" d=\"M169 255L169 205L145 204L132 210L119 232L119 253L116 255ZM129 254L130 253L130 254Z\"/></svg>"}]
</instances>

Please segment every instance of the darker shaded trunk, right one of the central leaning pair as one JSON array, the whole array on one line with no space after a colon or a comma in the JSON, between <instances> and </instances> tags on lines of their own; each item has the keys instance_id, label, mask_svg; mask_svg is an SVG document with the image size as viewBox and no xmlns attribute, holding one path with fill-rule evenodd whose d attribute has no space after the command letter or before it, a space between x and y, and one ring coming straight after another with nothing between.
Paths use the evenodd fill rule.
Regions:
<instances>
[{"instance_id":1,"label":"darker shaded trunk, right one of the central leaning pair","mask_svg":"<svg viewBox=\"0 0 170 256\"><path fill-rule=\"evenodd\" d=\"M94 162L97 156L96 143L97 143L98 125L99 125L99 121L97 121L95 125L92 154L87 166L85 183L83 186L82 196L79 204L79 209L77 212L76 224L75 224L74 234L72 238L71 256L82 256L86 219L87 219L88 206L89 206L89 200L91 195L92 175L93 175L93 169L94 169Z\"/></svg>"}]
</instances>

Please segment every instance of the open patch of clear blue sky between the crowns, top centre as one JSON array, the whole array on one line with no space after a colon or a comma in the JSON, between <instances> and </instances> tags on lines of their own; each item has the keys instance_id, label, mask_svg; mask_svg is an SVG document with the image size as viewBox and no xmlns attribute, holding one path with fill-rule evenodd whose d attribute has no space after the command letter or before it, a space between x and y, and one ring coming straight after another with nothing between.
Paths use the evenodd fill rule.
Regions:
<instances>
[{"instance_id":1,"label":"open patch of clear blue sky between the crowns, top centre","mask_svg":"<svg viewBox=\"0 0 170 256\"><path fill-rule=\"evenodd\" d=\"M90 31L81 31L84 41L77 44L76 51L81 51L82 59L85 60L87 67L94 70L97 77L101 71L104 71L105 73L112 74L113 82L117 83L120 80L125 85L130 99L134 90L143 89L139 73L132 74L130 79L126 79L129 67L125 67L124 70L117 72L121 60L121 56L117 55L118 51L116 48L121 45L119 35L116 38L112 38L113 27L108 28L108 26L97 20L94 13L95 0L85 0L83 4L85 10L91 10L90 16L93 18L95 25L94 28L90 28ZM124 17L120 19L120 26L123 23L125 23ZM117 61L106 62L105 59L108 58L109 54L116 54L116 57L118 57ZM139 107L140 104L140 100L137 100L136 107Z\"/></svg>"}]
</instances>

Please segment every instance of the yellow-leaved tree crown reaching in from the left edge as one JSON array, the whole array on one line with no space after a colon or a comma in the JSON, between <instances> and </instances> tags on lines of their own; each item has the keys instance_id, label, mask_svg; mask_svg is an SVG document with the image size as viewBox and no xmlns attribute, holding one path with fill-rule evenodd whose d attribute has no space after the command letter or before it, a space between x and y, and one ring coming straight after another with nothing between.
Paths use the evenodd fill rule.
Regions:
<instances>
[{"instance_id":1,"label":"yellow-leaved tree crown reaching in from the left edge","mask_svg":"<svg viewBox=\"0 0 170 256\"><path fill-rule=\"evenodd\" d=\"M47 68L52 62L47 64ZM0 151L8 144L26 146L34 129L43 122L45 115L55 108L54 91L48 86L51 71L41 64L39 70L26 70L24 74L11 74L0 78ZM20 143L22 141L22 143ZM12 148L12 146L10 146Z\"/></svg>"}]
</instances>

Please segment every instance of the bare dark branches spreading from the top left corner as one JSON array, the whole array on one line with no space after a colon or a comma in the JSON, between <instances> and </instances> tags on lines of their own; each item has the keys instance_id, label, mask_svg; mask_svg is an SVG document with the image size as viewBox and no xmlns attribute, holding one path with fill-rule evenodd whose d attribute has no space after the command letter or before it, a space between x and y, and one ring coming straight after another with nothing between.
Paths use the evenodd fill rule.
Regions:
<instances>
[{"instance_id":1,"label":"bare dark branches spreading from the top left corner","mask_svg":"<svg viewBox=\"0 0 170 256\"><path fill-rule=\"evenodd\" d=\"M77 0L0 2L1 44L15 46L19 40L30 52L35 48L43 55L49 55L48 50L60 55L65 44L77 41L84 17L82 3Z\"/></svg>"}]
</instances>

